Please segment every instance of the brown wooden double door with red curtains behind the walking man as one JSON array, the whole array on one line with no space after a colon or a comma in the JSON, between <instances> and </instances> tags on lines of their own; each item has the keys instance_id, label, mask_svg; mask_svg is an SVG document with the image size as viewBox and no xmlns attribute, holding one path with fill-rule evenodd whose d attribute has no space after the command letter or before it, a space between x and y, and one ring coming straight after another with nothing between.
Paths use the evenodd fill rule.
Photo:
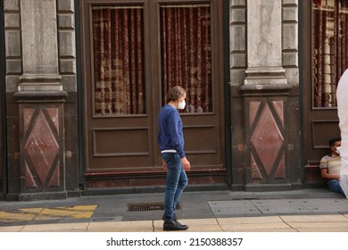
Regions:
<instances>
[{"instance_id":1,"label":"brown wooden double door with red curtains behind the walking man","mask_svg":"<svg viewBox=\"0 0 348 250\"><path fill-rule=\"evenodd\" d=\"M81 2L86 187L163 183L157 114L175 85L191 183L224 181L222 1Z\"/></svg>"}]
</instances>

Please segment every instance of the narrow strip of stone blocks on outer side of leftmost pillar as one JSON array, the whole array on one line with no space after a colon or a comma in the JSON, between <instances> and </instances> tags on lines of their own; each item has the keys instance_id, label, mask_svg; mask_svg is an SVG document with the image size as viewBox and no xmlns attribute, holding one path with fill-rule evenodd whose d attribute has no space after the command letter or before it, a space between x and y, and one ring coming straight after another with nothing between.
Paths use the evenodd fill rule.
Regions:
<instances>
[{"instance_id":1,"label":"narrow strip of stone blocks on outer side of leftmost pillar","mask_svg":"<svg viewBox=\"0 0 348 250\"><path fill-rule=\"evenodd\" d=\"M20 0L4 0L5 84L7 112L7 199L20 193L20 139L18 104L13 98L22 74L21 4Z\"/></svg>"}]
</instances>

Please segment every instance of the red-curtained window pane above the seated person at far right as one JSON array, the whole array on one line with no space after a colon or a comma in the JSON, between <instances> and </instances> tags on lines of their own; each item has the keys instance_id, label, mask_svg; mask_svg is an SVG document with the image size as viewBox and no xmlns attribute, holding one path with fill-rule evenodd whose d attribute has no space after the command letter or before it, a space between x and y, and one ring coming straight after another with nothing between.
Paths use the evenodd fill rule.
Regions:
<instances>
[{"instance_id":1,"label":"red-curtained window pane above the seated person at far right","mask_svg":"<svg viewBox=\"0 0 348 250\"><path fill-rule=\"evenodd\" d=\"M313 0L313 106L336 107L336 86L348 67L348 1Z\"/></svg>"}]
</instances>

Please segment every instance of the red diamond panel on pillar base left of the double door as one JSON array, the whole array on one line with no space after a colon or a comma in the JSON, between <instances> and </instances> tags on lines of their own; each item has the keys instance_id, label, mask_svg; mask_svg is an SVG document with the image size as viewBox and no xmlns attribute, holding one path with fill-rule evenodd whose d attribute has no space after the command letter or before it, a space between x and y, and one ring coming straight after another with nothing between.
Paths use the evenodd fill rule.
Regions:
<instances>
[{"instance_id":1,"label":"red diamond panel on pillar base left of the double door","mask_svg":"<svg viewBox=\"0 0 348 250\"><path fill-rule=\"evenodd\" d=\"M60 131L58 108L23 108L24 189L60 187Z\"/></svg>"}]
</instances>

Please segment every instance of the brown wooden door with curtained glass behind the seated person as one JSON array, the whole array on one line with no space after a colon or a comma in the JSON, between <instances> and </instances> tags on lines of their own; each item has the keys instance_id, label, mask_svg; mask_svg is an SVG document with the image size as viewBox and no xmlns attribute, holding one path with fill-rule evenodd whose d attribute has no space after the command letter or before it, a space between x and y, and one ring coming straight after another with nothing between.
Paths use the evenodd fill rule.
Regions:
<instances>
[{"instance_id":1,"label":"brown wooden door with curtained glass behind the seated person","mask_svg":"<svg viewBox=\"0 0 348 250\"><path fill-rule=\"evenodd\" d=\"M338 1L329 1L325 4L334 4ZM334 43L319 42L328 40L334 32L325 33L327 29L319 30L320 22L318 13L326 12L327 7L319 8L311 1L302 1L302 138L303 138L303 164L319 165L321 157L328 152L328 141L332 137L340 136L336 104L336 58L334 54L325 55L325 51L332 49ZM315 12L315 13L314 13ZM333 14L329 12L328 14ZM323 16L324 17L324 16ZM321 17L321 18L323 18ZM328 17L328 16L327 16ZM327 18L325 17L325 18ZM334 19L327 19L332 22ZM314 21L318 23L313 28ZM334 23L330 24L334 26ZM312 36L311 36L312 35ZM334 37L330 38L332 42ZM320 54L320 51L322 54ZM332 50L332 53L335 53ZM325 58L325 60L322 60ZM326 64L327 63L327 64ZM319 84L322 84L321 86ZM323 87L325 85L325 87ZM321 92L320 92L321 91ZM331 105L331 106L329 106Z\"/></svg>"}]
</instances>

